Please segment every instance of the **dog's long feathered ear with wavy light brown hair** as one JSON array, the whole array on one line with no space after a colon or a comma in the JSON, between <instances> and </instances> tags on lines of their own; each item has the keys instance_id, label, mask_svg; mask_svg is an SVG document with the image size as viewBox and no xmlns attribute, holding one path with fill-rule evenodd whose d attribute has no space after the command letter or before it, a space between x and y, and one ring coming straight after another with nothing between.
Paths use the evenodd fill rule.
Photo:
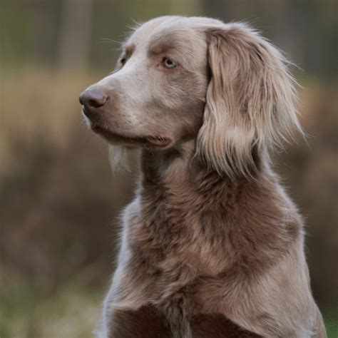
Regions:
<instances>
[{"instance_id":1,"label":"dog's long feathered ear with wavy light brown hair","mask_svg":"<svg viewBox=\"0 0 338 338\"><path fill-rule=\"evenodd\" d=\"M282 53L245 24L206 29L211 78L197 153L230 178L255 172L257 153L297 128L295 80Z\"/></svg>"}]
</instances>

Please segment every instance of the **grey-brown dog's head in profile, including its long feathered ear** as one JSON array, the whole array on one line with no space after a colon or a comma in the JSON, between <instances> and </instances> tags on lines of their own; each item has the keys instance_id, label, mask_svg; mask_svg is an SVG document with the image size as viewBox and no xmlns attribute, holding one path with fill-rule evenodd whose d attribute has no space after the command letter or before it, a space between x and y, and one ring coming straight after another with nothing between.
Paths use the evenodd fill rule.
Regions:
<instances>
[{"instance_id":1,"label":"grey-brown dog's head in profile, including its long feathered ear","mask_svg":"<svg viewBox=\"0 0 338 338\"><path fill-rule=\"evenodd\" d=\"M110 143L165 150L195 139L196 155L232 178L300 130L295 100L287 61L256 31L180 16L138 26L116 71L80 98Z\"/></svg>"}]
</instances>

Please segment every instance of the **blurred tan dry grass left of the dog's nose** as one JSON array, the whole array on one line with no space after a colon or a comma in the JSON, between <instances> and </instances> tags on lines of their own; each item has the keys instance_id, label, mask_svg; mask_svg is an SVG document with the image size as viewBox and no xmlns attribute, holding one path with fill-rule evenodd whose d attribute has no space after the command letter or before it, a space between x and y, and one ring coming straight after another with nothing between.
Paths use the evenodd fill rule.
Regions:
<instances>
[{"instance_id":1,"label":"blurred tan dry grass left of the dog's nose","mask_svg":"<svg viewBox=\"0 0 338 338\"><path fill-rule=\"evenodd\" d=\"M53 71L6 73L1 79L1 170L21 160L11 147L16 139L28 146L50 143L63 150L74 126L81 128L78 96L95 76Z\"/></svg>"}]
</instances>

